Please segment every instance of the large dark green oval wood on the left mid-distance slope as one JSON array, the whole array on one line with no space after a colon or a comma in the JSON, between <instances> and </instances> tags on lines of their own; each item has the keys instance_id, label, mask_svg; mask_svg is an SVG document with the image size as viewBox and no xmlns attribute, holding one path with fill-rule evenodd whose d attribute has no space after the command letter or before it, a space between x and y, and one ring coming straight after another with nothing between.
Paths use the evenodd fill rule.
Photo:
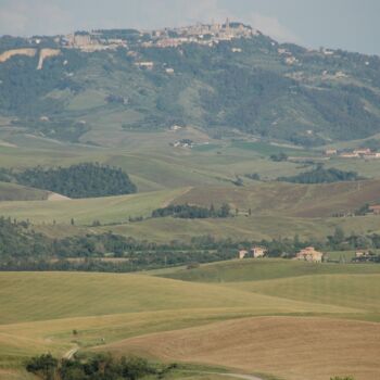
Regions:
<instances>
[{"instance_id":1,"label":"large dark green oval wood on the left mid-distance slope","mask_svg":"<svg viewBox=\"0 0 380 380\"><path fill-rule=\"evenodd\" d=\"M97 198L130 194L137 191L121 168L84 163L69 167L35 167L22 173L0 172L0 179L15 180L31 188L49 190L68 198Z\"/></svg>"}]
</instances>

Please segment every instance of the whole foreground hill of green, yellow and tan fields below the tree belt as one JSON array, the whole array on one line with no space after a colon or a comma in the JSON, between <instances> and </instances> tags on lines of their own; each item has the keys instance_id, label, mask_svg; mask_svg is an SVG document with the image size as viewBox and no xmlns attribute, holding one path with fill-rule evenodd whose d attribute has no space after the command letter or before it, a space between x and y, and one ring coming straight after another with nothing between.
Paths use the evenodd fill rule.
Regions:
<instances>
[{"instance_id":1,"label":"whole foreground hill of green, yellow and tan fields below the tree belt","mask_svg":"<svg viewBox=\"0 0 380 380\"><path fill-rule=\"evenodd\" d=\"M0 376L11 371L24 379L24 358L43 352L62 356L79 347L83 353L142 354L290 380L349 370L358 379L376 379L378 324L357 319L379 320L377 269L276 259L230 262L202 266L199 270L208 277L193 278L202 283L185 282L180 269L180 280L149 273L2 273ZM311 350L315 362L293 365ZM363 350L366 360L358 366L353 357L363 357ZM249 354L257 351L263 355ZM268 359L274 352L276 362ZM324 363L324 370L315 367L317 362L319 368Z\"/></svg>"}]
</instances>

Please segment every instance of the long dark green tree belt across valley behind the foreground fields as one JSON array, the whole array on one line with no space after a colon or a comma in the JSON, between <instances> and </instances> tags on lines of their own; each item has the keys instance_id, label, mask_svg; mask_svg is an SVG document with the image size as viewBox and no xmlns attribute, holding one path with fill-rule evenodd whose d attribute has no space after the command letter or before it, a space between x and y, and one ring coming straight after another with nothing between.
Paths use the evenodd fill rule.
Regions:
<instances>
[{"instance_id":1,"label":"long dark green tree belt across valley behind the foreground fields","mask_svg":"<svg viewBox=\"0 0 380 380\"><path fill-rule=\"evenodd\" d=\"M168 266L213 263L237 257L238 250L265 246L270 257L294 257L305 246L317 250L368 250L366 261L379 263L380 235L350 235L337 228L326 240L294 238L273 240L217 240L211 236L193 237L189 242L154 243L112 232L87 233L52 239L34 231L26 221L0 218L0 270L62 270L130 273ZM74 259L75 258L75 259ZM121 261L110 258L123 258Z\"/></svg>"}]
</instances>

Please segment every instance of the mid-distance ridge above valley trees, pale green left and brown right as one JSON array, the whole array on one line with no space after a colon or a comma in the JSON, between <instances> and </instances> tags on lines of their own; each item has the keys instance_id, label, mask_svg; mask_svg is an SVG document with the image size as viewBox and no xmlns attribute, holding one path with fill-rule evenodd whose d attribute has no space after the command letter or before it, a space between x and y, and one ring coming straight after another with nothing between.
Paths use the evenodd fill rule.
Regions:
<instances>
[{"instance_id":1,"label":"mid-distance ridge above valley trees, pale green left and brown right","mask_svg":"<svg viewBox=\"0 0 380 380\"><path fill-rule=\"evenodd\" d=\"M353 213L364 204L379 202L380 180L359 182L337 182L327 185L292 185L283 182L258 183L250 187L188 187L172 191L154 191L131 195L104 197L99 199L73 200L72 202L3 202L0 213L17 219L29 218L34 223L69 221L73 217L78 224L90 224L100 220L104 224L121 224L128 217L148 217L160 207L173 205L193 204L210 207L220 207L227 203L232 212L251 217L273 216L303 218L304 223L312 223L308 218L328 218L334 214ZM243 220L214 220L215 224L239 226ZM170 218L169 218L170 219ZM355 220L337 219L339 223ZM372 218L372 223L376 223ZM159 223L165 223L160 220ZM176 220L176 223L182 223ZM199 220L194 220L194 225ZM148 225L156 224L147 220ZM249 225L246 225L249 228ZM130 226L134 228L134 226Z\"/></svg>"}]
</instances>

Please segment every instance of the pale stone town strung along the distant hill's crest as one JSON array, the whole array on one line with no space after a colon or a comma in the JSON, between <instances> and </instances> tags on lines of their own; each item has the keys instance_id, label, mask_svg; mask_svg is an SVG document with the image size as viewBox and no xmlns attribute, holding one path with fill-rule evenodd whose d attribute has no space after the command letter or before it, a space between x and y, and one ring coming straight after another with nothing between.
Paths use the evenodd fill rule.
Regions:
<instances>
[{"instance_id":1,"label":"pale stone town strung along the distant hill's crest","mask_svg":"<svg viewBox=\"0 0 380 380\"><path fill-rule=\"evenodd\" d=\"M187 27L163 28L155 30L137 29L97 29L91 31L75 31L61 36L34 36L25 39L22 48L0 51L0 63L15 55L39 56L37 69L41 69L43 61L62 53L62 49L76 49L85 53L96 51L127 49L128 55L137 58L134 49L139 48L178 48L188 43L205 47L217 46L221 41L231 41L238 38L251 38L261 33L242 23L231 23L228 18L224 24L197 24ZM241 49L233 48L233 52ZM152 69L153 62L137 62L140 68ZM174 71L169 67L167 74Z\"/></svg>"}]
</instances>

